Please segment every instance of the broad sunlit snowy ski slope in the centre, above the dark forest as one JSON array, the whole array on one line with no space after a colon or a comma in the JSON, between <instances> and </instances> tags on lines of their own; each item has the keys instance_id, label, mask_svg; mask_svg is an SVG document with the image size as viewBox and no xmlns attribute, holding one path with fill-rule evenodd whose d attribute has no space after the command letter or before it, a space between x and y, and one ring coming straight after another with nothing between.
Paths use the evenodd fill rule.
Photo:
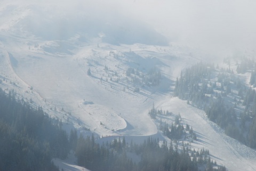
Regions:
<instances>
[{"instance_id":1,"label":"broad sunlit snowy ski slope in the centre, above the dark forest","mask_svg":"<svg viewBox=\"0 0 256 171\"><path fill-rule=\"evenodd\" d=\"M101 46L78 48L75 55L42 54L30 50L22 52L10 49L6 51L4 57L6 61L10 60L10 69L23 82L33 87L33 91L44 101L54 105L52 109L55 106L63 108L94 132L100 135L156 133L155 125L147 115L148 107L157 98L161 98L161 94L169 93L174 65L184 67L183 63L186 65L191 59L173 57L172 54L145 45ZM130 49L140 51L130 52ZM166 65L166 62L171 65ZM108 67L108 71L105 70L105 66ZM134 67L147 72L155 66L167 71L166 75L163 75L162 83L134 92L136 85L126 82L126 69ZM86 73L89 68L91 76ZM110 81L111 73L117 73L113 76L113 81ZM109 81L106 81L107 79ZM116 82L116 79L120 81ZM62 117L65 121L68 119L69 117ZM144 124L141 124L142 122ZM126 125L132 125L133 129L125 129Z\"/></svg>"}]
</instances>

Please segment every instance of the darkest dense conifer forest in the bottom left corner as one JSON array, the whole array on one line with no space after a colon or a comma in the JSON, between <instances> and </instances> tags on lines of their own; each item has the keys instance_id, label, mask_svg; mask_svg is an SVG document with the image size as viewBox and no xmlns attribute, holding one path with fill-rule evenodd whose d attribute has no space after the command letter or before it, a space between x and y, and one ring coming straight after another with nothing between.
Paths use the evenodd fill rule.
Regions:
<instances>
[{"instance_id":1,"label":"darkest dense conifer forest in the bottom left corner","mask_svg":"<svg viewBox=\"0 0 256 171\"><path fill-rule=\"evenodd\" d=\"M59 170L51 159L69 152L61 122L0 89L0 170Z\"/></svg>"}]
</instances>

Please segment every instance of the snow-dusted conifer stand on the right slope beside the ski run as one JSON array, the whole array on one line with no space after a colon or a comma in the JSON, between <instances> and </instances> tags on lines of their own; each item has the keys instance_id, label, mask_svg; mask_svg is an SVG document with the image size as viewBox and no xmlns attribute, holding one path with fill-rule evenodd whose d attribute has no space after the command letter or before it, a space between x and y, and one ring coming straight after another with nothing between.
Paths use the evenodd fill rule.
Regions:
<instances>
[{"instance_id":1,"label":"snow-dusted conifer stand on the right slope beside the ski run","mask_svg":"<svg viewBox=\"0 0 256 171\"><path fill-rule=\"evenodd\" d=\"M237 72L250 72L254 87L256 72L252 59L237 64ZM230 69L198 63L182 72L175 82L174 96L205 111L210 121L246 146L256 148L256 92Z\"/></svg>"}]
</instances>

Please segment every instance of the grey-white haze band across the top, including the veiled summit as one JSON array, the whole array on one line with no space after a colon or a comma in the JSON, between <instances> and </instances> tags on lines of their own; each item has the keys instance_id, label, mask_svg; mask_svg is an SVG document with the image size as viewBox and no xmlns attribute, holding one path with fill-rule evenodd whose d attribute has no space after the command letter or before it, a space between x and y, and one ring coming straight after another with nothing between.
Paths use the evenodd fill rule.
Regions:
<instances>
[{"instance_id":1,"label":"grey-white haze band across the top, including the veiled summit","mask_svg":"<svg viewBox=\"0 0 256 171\"><path fill-rule=\"evenodd\" d=\"M83 35L80 39L87 40L103 32L105 41L113 44L179 42L221 57L256 48L255 1L57 0L9 4L2 7L1 30L33 33L44 39L68 39L78 33ZM17 13L19 19L5 20Z\"/></svg>"}]
</instances>

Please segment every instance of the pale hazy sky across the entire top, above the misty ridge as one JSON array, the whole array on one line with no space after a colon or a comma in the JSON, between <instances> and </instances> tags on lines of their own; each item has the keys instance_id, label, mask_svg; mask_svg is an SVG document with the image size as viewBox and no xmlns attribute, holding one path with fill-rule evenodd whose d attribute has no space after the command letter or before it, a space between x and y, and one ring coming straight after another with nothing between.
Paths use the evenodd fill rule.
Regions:
<instances>
[{"instance_id":1,"label":"pale hazy sky across the entire top, above the misty ridge","mask_svg":"<svg viewBox=\"0 0 256 171\"><path fill-rule=\"evenodd\" d=\"M47 13L48 16L44 21L53 19L53 24L56 24L55 21L59 18L66 19L69 16L70 20L77 19L72 21L72 24L81 24L84 22L82 19L87 17L92 21L100 19L102 22L111 19L110 24L116 24L118 27L123 25L124 28L128 22L134 21L132 29L136 30L141 21L161 32L170 42L180 42L212 53L225 51L232 54L239 50L256 49L256 1L254 0L45 0L36 2L23 0L17 2L22 5L33 3L29 8L34 9L35 12L41 12L37 14L38 20L42 21L42 15ZM57 18L56 15L58 15ZM81 20L79 20L80 16ZM36 21L36 15L33 14L33 17ZM30 20L31 18L28 21ZM100 24L98 26L101 27ZM42 26L39 25L38 28ZM138 28L143 27L139 25Z\"/></svg>"}]
</instances>

